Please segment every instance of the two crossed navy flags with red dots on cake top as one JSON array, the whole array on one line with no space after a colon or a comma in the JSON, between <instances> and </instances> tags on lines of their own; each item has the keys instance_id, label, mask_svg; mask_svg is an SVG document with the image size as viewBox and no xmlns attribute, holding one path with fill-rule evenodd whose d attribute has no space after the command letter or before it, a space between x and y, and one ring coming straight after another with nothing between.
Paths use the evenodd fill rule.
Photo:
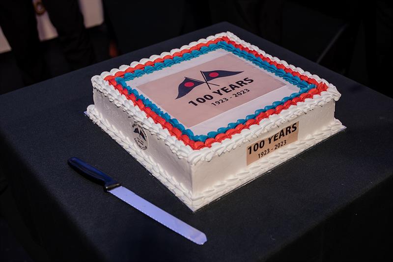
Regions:
<instances>
[{"instance_id":1,"label":"two crossed navy flags with red dots on cake top","mask_svg":"<svg viewBox=\"0 0 393 262\"><path fill-rule=\"evenodd\" d=\"M191 92L195 87L201 84L207 84L207 86L210 88L210 85L216 85L220 86L218 84L210 83L209 81L218 79L218 78L224 78L224 77L229 77L229 76L234 76L240 73L243 73L243 71L240 72L234 72L234 71L225 71L225 70L214 70L214 71L200 71L203 77L202 80L197 80L197 79L192 79L185 77L183 82L179 84L179 93L176 97L176 99L184 97L188 93Z\"/></svg>"}]
</instances>

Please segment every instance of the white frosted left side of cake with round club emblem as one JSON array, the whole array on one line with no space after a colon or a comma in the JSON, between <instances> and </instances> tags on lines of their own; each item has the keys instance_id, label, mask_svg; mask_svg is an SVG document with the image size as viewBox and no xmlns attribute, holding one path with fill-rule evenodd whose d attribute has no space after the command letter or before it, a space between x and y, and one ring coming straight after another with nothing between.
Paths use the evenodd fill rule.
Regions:
<instances>
[{"instance_id":1,"label":"white frosted left side of cake with round club emblem","mask_svg":"<svg viewBox=\"0 0 393 262\"><path fill-rule=\"evenodd\" d=\"M176 196L179 198L181 196L181 200L184 203L190 203L191 167L187 159L179 159L176 154L171 152L163 139L158 139L157 135L143 129L121 105L115 105L104 93L93 89L93 99L94 110L100 118L98 121L106 121L107 125L111 125L123 137L122 140L124 141L119 142L115 140L124 148L124 144L132 146L135 153L132 154L129 150L127 151L134 158L164 183ZM105 129L103 130L110 133ZM139 143L140 141L142 143ZM154 164L146 163L145 160ZM157 166L161 167L162 170L154 170L157 169Z\"/></svg>"}]
</instances>

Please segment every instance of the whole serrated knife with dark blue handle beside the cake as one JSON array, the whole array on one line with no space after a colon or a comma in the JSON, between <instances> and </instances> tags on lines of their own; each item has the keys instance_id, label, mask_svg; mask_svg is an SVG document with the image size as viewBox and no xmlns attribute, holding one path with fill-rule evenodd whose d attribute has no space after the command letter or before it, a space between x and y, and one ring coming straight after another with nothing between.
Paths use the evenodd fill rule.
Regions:
<instances>
[{"instance_id":1,"label":"whole serrated knife with dark blue handle beside the cake","mask_svg":"<svg viewBox=\"0 0 393 262\"><path fill-rule=\"evenodd\" d=\"M133 191L125 188L110 176L87 164L83 160L77 157L71 157L68 159L68 164L85 178L103 185L106 192L120 198L128 205L153 218L177 234L186 237L198 245L203 245L203 243L207 241L206 235L196 228L193 228L189 224L141 198Z\"/></svg>"}]
</instances>

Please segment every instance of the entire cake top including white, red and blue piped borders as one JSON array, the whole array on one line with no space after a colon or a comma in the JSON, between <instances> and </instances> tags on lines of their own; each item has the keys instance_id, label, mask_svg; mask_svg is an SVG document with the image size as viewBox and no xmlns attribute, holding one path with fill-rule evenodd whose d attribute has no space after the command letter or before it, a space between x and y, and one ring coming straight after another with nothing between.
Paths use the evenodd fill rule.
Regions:
<instances>
[{"instance_id":1,"label":"entire cake top including white, red and blue piped borders","mask_svg":"<svg viewBox=\"0 0 393 262\"><path fill-rule=\"evenodd\" d=\"M190 161L229 151L340 96L326 80L230 32L103 72L92 82Z\"/></svg>"}]
</instances>

